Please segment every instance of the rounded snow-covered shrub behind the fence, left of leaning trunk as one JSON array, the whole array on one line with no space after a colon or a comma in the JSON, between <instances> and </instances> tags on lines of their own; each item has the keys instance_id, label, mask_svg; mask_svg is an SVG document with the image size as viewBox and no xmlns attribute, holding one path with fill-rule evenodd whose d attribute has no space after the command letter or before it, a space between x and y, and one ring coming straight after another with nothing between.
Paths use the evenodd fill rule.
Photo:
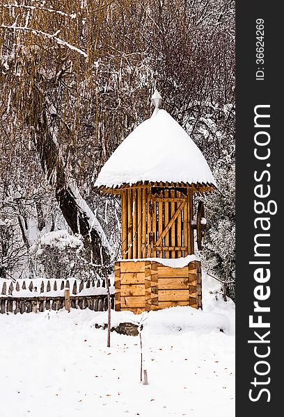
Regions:
<instances>
[{"instance_id":1,"label":"rounded snow-covered shrub behind the fence, left of leaning trunk","mask_svg":"<svg viewBox=\"0 0 284 417\"><path fill-rule=\"evenodd\" d=\"M67 230L44 234L31 246L30 254L45 278L88 279L94 275L84 259L81 236L70 235Z\"/></svg>"}]
</instances>

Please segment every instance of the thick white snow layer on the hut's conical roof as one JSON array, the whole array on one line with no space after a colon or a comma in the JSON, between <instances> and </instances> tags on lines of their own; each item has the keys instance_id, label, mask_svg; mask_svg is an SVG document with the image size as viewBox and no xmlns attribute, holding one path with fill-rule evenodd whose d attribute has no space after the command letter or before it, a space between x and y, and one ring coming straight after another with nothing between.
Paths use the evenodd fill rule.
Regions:
<instances>
[{"instance_id":1,"label":"thick white snow layer on the hut's conical roof","mask_svg":"<svg viewBox=\"0 0 284 417\"><path fill-rule=\"evenodd\" d=\"M171 115L155 110L123 140L95 181L113 188L138 181L212 183L203 154Z\"/></svg>"}]
</instances>

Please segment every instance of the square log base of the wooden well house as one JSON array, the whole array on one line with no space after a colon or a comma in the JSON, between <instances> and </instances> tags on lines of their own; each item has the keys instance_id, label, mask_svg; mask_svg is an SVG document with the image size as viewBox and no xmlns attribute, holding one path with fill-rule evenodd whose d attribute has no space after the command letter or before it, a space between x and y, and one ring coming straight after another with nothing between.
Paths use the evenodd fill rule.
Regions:
<instances>
[{"instance_id":1,"label":"square log base of the wooden well house","mask_svg":"<svg viewBox=\"0 0 284 417\"><path fill-rule=\"evenodd\" d=\"M116 311L139 314L173 306L202 309L200 261L183 268L157 261L119 261L114 272Z\"/></svg>"}]
</instances>

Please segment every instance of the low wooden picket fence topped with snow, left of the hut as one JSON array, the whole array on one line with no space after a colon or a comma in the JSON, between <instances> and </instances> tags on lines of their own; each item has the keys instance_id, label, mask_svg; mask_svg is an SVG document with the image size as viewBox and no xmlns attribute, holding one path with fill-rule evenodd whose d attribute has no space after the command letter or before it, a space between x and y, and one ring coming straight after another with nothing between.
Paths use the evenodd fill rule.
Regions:
<instances>
[{"instance_id":1,"label":"low wooden picket fence topped with snow, left of the hut","mask_svg":"<svg viewBox=\"0 0 284 417\"><path fill-rule=\"evenodd\" d=\"M109 289L111 308L114 308L114 288L111 286ZM12 282L8 279L0 279L0 313L2 314L60 310L66 305L70 305L73 309L107 310L107 288L104 281L17 279Z\"/></svg>"}]
</instances>

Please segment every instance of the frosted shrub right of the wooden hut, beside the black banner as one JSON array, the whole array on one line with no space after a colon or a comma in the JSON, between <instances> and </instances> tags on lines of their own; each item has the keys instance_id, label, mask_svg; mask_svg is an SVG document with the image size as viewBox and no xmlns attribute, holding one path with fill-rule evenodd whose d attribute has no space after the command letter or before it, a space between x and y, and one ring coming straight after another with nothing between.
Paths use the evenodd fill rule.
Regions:
<instances>
[{"instance_id":1,"label":"frosted shrub right of the wooden hut, beside the black banner","mask_svg":"<svg viewBox=\"0 0 284 417\"><path fill-rule=\"evenodd\" d=\"M228 284L235 300L235 165L222 164L214 170L218 190L205 197L207 230L200 252L203 267Z\"/></svg>"}]
</instances>

